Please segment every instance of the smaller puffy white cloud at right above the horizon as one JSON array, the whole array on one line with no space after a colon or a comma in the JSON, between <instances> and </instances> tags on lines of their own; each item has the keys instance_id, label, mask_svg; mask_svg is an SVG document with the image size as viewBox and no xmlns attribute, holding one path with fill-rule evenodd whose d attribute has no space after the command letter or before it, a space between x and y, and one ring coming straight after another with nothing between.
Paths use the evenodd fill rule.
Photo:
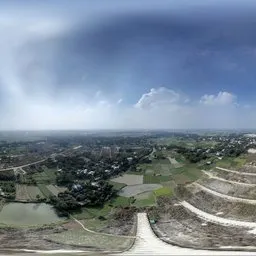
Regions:
<instances>
[{"instance_id":1,"label":"smaller puffy white cloud at right above the horizon","mask_svg":"<svg viewBox=\"0 0 256 256\"><path fill-rule=\"evenodd\" d=\"M219 92L217 95L205 94L201 97L200 103L205 105L232 105L236 104L236 96L229 92Z\"/></svg>"}]
</instances>

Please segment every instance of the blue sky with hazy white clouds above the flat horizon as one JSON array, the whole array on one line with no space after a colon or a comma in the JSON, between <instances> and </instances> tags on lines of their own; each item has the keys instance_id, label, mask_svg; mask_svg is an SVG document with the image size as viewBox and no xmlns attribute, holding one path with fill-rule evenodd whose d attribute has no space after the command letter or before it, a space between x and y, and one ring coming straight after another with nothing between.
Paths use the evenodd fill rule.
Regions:
<instances>
[{"instance_id":1,"label":"blue sky with hazy white clouds above the flat horizon","mask_svg":"<svg viewBox=\"0 0 256 256\"><path fill-rule=\"evenodd\" d=\"M0 129L254 129L255 7L0 0Z\"/></svg>"}]
</instances>

